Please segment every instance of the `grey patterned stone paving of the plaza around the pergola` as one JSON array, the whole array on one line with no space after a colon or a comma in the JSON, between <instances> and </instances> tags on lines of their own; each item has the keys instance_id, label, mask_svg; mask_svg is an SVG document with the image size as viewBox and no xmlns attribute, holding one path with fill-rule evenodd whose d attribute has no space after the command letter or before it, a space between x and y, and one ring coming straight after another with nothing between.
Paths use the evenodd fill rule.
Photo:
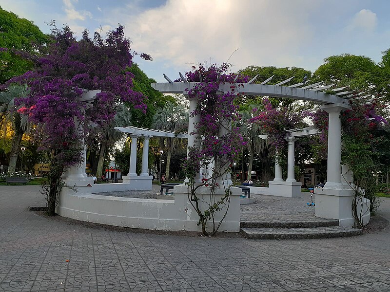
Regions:
<instances>
[{"instance_id":1,"label":"grey patterned stone paving of the plaza around the pergola","mask_svg":"<svg viewBox=\"0 0 390 292\"><path fill-rule=\"evenodd\" d=\"M311 240L132 232L30 212L45 204L39 191L0 186L0 291L390 291L389 227ZM242 216L293 209L288 198L267 199L263 209L261 198L242 206ZM390 219L390 199L378 215Z\"/></svg>"}]
</instances>

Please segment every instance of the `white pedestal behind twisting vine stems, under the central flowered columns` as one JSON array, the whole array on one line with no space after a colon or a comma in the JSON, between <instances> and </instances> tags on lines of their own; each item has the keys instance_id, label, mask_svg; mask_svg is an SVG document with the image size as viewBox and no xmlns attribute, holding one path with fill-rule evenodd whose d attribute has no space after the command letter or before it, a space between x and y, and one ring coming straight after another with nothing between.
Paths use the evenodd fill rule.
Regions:
<instances>
[{"instance_id":1,"label":"white pedestal behind twisting vine stems, under the central flowered columns","mask_svg":"<svg viewBox=\"0 0 390 292\"><path fill-rule=\"evenodd\" d=\"M238 232L240 230L240 195L241 189L232 187L232 195L230 196L230 205L228 213L223 219L223 222L218 231L225 232ZM216 190L217 194L216 201L219 201L222 197L225 196L224 188ZM187 185L176 185L174 188L175 193L175 206L179 212L180 219L182 221L183 230L189 231L201 231L201 226L196 224L199 221L199 216L197 215L195 209L191 205L188 199L188 186ZM199 198L199 206L202 211L208 209L208 205L205 202L210 201L210 189L206 186L201 186L196 190L196 196ZM222 219L223 215L226 212L227 204L220 205L221 210L215 213L215 223ZM207 223L207 230L213 230L213 222L209 220Z\"/></svg>"}]
</instances>

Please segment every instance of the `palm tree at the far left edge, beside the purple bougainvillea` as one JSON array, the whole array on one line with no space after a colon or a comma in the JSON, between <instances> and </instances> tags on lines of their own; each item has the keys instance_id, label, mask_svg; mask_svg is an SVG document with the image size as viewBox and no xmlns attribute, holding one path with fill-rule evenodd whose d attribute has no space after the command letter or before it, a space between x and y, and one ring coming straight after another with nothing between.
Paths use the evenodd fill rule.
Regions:
<instances>
[{"instance_id":1,"label":"palm tree at the far left edge, beside the purple bougainvillea","mask_svg":"<svg viewBox=\"0 0 390 292\"><path fill-rule=\"evenodd\" d=\"M0 92L0 128L5 133L7 125L11 123L14 131L8 163L9 173L15 172L21 139L24 133L30 131L31 126L28 117L17 111L21 106L15 105L15 99L27 96L28 92L27 85L10 86L7 91Z\"/></svg>"}]
</instances>

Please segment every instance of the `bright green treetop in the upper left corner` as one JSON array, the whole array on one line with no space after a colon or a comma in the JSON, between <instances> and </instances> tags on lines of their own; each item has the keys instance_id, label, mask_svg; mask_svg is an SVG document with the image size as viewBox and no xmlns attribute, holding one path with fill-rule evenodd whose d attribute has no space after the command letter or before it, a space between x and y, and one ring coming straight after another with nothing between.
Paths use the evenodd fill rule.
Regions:
<instances>
[{"instance_id":1,"label":"bright green treetop in the upper left corner","mask_svg":"<svg viewBox=\"0 0 390 292\"><path fill-rule=\"evenodd\" d=\"M0 6L0 84L33 68L33 62L18 52L36 55L50 37L43 34L32 21L19 18Z\"/></svg>"}]
</instances>

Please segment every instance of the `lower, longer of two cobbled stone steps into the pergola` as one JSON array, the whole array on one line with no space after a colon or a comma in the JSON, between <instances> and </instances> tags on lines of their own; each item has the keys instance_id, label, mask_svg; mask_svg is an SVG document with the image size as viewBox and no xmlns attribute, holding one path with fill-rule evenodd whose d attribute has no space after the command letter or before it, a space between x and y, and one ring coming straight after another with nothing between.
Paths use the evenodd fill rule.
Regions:
<instances>
[{"instance_id":1,"label":"lower, longer of two cobbled stone steps into the pergola","mask_svg":"<svg viewBox=\"0 0 390 292\"><path fill-rule=\"evenodd\" d=\"M341 226L316 228L241 228L241 233L250 239L312 239L349 237L363 234L361 229Z\"/></svg>"}]
</instances>

